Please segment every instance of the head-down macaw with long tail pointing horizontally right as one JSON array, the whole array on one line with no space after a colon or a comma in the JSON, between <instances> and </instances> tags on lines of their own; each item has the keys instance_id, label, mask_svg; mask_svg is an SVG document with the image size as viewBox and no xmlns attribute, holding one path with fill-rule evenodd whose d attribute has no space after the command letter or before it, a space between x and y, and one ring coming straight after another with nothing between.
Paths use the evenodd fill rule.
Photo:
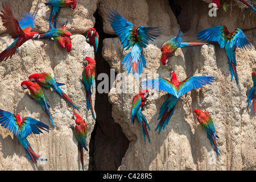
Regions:
<instances>
[{"instance_id":1,"label":"head-down macaw with long tail pointing horizontally right","mask_svg":"<svg viewBox=\"0 0 256 182\"><path fill-rule=\"evenodd\" d=\"M181 42L181 36L183 35L185 34L180 35L180 30L179 30L175 38L168 40L161 47L161 52L162 52L161 62L163 63L163 65L167 64L168 58L173 56L177 48L179 47L203 46L205 44L208 44L208 43L199 43L199 42Z\"/></svg>"}]
</instances>

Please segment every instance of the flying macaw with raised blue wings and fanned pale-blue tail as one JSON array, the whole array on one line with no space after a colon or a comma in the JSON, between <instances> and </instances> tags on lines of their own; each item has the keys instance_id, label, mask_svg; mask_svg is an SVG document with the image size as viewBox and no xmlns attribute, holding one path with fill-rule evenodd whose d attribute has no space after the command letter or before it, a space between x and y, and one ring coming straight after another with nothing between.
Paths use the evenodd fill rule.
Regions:
<instances>
[{"instance_id":1,"label":"flying macaw with raised blue wings and fanned pale-blue tail","mask_svg":"<svg viewBox=\"0 0 256 182\"><path fill-rule=\"evenodd\" d=\"M162 32L158 27L140 26L135 28L132 23L128 22L115 10L110 10L109 15L109 22L115 34L117 34L121 40L123 48L127 50L132 47L131 52L123 58L123 68L126 67L128 74L132 69L133 75L135 74L138 78L138 75L142 73L143 66L147 68L146 60L143 56L143 48L146 48L149 40L155 39L162 34Z\"/></svg>"}]
</instances>

